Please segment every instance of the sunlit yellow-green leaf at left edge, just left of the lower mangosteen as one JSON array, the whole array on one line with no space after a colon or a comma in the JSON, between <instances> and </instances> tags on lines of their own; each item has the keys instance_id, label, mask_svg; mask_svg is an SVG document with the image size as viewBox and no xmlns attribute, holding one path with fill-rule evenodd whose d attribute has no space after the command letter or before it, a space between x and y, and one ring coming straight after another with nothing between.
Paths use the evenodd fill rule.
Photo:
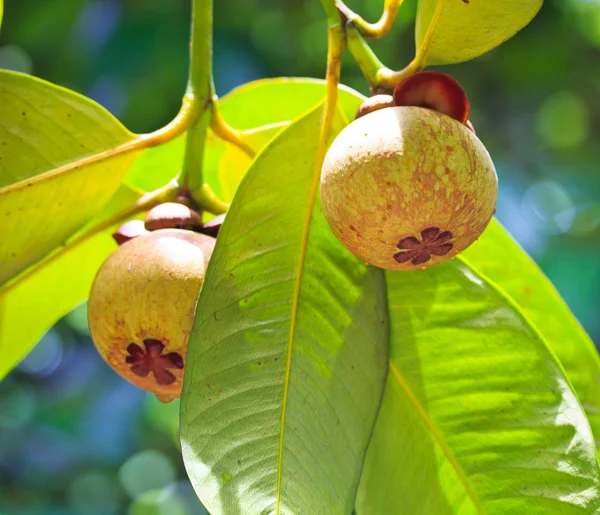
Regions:
<instances>
[{"instance_id":1,"label":"sunlit yellow-green leaf at left edge, just left of the lower mangosteen","mask_svg":"<svg viewBox=\"0 0 600 515\"><path fill-rule=\"evenodd\" d=\"M128 186L121 187L89 228L139 198L139 192ZM80 240L77 245L57 249L13 281L0 286L0 379L50 327L88 298L96 272L115 248L108 228Z\"/></svg>"}]
</instances>

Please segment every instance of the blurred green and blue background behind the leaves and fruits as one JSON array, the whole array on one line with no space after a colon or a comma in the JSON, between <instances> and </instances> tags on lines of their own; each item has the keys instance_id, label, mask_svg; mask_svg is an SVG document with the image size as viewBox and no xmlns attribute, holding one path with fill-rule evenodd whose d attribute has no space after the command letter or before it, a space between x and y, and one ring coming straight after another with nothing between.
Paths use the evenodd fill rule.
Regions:
<instances>
[{"instance_id":1,"label":"blurred green and blue background behind the leaves and fruits","mask_svg":"<svg viewBox=\"0 0 600 515\"><path fill-rule=\"evenodd\" d=\"M130 129L177 112L189 0L5 0L0 68L88 95ZM350 0L374 21L383 1ZM413 55L416 0L373 43L400 68ZM261 77L322 77L318 0L215 2L219 94ZM445 67L467 90L500 180L498 218L600 343L600 1L546 0L511 41ZM343 82L367 93L347 56ZM290 102L294 99L291 98ZM178 402L163 405L97 355L82 306L0 383L0 514L206 513L186 478Z\"/></svg>"}]
</instances>

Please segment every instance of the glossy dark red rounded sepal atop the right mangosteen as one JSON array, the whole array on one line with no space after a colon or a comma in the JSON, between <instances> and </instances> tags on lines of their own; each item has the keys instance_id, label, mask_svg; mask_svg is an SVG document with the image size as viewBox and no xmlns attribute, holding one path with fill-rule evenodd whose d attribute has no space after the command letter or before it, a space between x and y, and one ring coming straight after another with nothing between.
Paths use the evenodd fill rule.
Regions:
<instances>
[{"instance_id":1,"label":"glossy dark red rounded sepal atop the right mangosteen","mask_svg":"<svg viewBox=\"0 0 600 515\"><path fill-rule=\"evenodd\" d=\"M442 72L419 72L402 80L394 88L394 103L433 109L463 124L467 124L471 111L465 90Z\"/></svg>"}]
</instances>

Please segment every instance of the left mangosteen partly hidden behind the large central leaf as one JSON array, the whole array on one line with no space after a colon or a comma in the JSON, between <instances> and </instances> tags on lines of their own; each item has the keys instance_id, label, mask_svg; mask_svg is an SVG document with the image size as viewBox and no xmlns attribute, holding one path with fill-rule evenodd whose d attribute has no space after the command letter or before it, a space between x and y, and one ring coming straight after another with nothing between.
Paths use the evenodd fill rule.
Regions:
<instances>
[{"instance_id":1,"label":"left mangosteen partly hidden behind the large central leaf","mask_svg":"<svg viewBox=\"0 0 600 515\"><path fill-rule=\"evenodd\" d=\"M142 234L108 257L92 286L88 321L101 356L163 402L181 394L196 300L215 242L181 229Z\"/></svg>"}]
</instances>

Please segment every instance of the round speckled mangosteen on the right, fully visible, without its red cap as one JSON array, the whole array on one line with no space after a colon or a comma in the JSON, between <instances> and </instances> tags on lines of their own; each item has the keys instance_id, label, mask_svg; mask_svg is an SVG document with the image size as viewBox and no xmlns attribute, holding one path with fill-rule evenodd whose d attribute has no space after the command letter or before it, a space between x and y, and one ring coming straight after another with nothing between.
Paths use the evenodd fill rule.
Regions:
<instances>
[{"instance_id":1,"label":"round speckled mangosteen on the right, fully visible, without its red cap","mask_svg":"<svg viewBox=\"0 0 600 515\"><path fill-rule=\"evenodd\" d=\"M348 125L321 173L325 217L366 263L415 270L471 245L495 212L498 180L477 136L422 107L391 107Z\"/></svg>"}]
</instances>

